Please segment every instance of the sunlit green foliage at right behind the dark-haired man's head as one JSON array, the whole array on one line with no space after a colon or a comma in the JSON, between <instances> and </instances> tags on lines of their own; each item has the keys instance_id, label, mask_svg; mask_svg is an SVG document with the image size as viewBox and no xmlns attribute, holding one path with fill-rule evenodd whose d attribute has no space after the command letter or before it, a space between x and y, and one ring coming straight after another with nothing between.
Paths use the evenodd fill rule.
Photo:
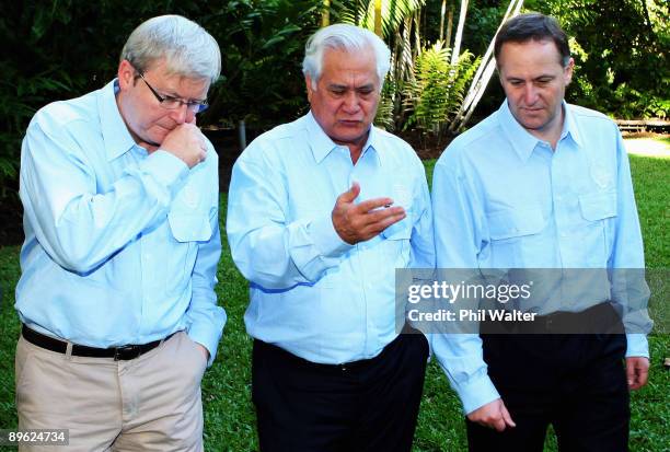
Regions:
<instances>
[{"instance_id":1,"label":"sunlit green foliage at right behind the dark-haired man's head","mask_svg":"<svg viewBox=\"0 0 670 452\"><path fill-rule=\"evenodd\" d=\"M619 118L668 117L670 14L657 0L527 1L574 36L578 67L570 102Z\"/></svg>"}]
</instances>

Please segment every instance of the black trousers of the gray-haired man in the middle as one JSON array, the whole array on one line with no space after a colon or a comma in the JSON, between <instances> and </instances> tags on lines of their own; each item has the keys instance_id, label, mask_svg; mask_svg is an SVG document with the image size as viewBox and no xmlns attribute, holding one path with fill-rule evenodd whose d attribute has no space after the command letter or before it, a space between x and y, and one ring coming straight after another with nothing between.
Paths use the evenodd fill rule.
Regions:
<instances>
[{"instance_id":1,"label":"black trousers of the gray-haired man in the middle","mask_svg":"<svg viewBox=\"0 0 670 452\"><path fill-rule=\"evenodd\" d=\"M376 358L305 361L254 341L252 398L261 451L409 451L428 341L402 334Z\"/></svg>"}]
</instances>

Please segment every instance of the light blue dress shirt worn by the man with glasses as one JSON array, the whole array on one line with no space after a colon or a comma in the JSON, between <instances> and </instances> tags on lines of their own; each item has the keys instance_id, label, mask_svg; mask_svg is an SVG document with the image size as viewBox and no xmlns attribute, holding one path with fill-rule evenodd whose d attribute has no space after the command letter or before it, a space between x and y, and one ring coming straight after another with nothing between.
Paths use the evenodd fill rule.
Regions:
<instances>
[{"instance_id":1,"label":"light blue dress shirt worn by the man with glasses","mask_svg":"<svg viewBox=\"0 0 670 452\"><path fill-rule=\"evenodd\" d=\"M42 108L21 152L25 242L16 310L74 344L146 344L176 331L210 352L226 323L213 287L221 253L218 157L188 170L137 146L116 81Z\"/></svg>"}]
</instances>

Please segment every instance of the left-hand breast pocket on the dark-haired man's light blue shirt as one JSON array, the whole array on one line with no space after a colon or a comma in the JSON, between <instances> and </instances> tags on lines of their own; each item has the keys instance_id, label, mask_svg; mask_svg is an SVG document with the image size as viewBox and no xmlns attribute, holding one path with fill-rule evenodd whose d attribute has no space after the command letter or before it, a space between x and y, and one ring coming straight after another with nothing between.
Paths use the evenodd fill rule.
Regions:
<instances>
[{"instance_id":1,"label":"left-hand breast pocket on the dark-haired man's light blue shirt","mask_svg":"<svg viewBox=\"0 0 670 452\"><path fill-rule=\"evenodd\" d=\"M546 243L546 218L540 208L505 210L487 215L490 264L496 268L540 265Z\"/></svg>"}]
</instances>

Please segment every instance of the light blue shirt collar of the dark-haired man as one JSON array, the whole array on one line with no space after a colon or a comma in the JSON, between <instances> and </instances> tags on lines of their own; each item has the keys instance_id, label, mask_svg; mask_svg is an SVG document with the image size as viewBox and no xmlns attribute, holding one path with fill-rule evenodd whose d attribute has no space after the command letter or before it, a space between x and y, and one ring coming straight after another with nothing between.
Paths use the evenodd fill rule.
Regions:
<instances>
[{"instance_id":1,"label":"light blue shirt collar of the dark-haired man","mask_svg":"<svg viewBox=\"0 0 670 452\"><path fill-rule=\"evenodd\" d=\"M568 105L565 101L562 102L562 107L565 112L565 117L559 140L564 139L569 135L578 146L581 146L581 140L579 138L579 129L577 128L573 112L570 111L570 108L568 108ZM519 124L519 121L511 114L509 105L507 104L507 100L503 102L503 105L500 105L500 108L498 109L498 118L503 128L503 132L507 136L509 142L515 149L515 152L517 152L517 155L519 155L519 159L521 159L521 161L525 163L535 150L538 143L542 140L532 136L528 130L523 128L523 126Z\"/></svg>"}]
</instances>

